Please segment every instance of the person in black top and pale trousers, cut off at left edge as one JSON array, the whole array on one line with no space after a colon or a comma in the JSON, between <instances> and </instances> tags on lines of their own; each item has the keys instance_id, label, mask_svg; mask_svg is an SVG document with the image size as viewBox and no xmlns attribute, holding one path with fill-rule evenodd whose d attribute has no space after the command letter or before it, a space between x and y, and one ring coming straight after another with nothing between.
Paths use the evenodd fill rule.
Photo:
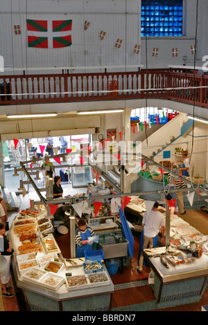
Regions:
<instances>
[{"instance_id":1,"label":"person in black top and pale trousers, cut off at left edge","mask_svg":"<svg viewBox=\"0 0 208 325\"><path fill-rule=\"evenodd\" d=\"M5 234L5 226L3 223L0 223L0 238L3 238L3 251L1 251L1 255L6 259L6 270L0 273L1 285L2 285L2 295L3 297L13 297L11 293L8 293L8 290L11 288L7 286L8 281L10 281L10 262L11 262L11 255L13 254L14 250L10 244L10 241L6 238Z\"/></svg>"}]
</instances>

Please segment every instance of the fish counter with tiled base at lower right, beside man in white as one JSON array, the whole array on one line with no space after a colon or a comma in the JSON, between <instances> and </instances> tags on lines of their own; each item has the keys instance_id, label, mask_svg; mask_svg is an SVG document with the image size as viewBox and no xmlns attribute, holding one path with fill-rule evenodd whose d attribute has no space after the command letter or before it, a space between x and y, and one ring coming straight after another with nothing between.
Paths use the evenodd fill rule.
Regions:
<instances>
[{"instance_id":1,"label":"fish counter with tiled base at lower right, beside man in white","mask_svg":"<svg viewBox=\"0 0 208 325\"><path fill-rule=\"evenodd\" d=\"M200 301L207 288L208 255L202 250L152 248L143 252L152 268L157 308Z\"/></svg>"}]
</instances>

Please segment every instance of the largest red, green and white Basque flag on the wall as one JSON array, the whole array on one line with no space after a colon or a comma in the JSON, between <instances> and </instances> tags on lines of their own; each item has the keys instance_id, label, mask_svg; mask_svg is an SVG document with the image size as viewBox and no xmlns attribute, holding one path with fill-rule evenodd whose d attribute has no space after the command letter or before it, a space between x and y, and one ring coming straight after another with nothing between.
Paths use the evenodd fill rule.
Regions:
<instances>
[{"instance_id":1,"label":"largest red, green and white Basque flag on the wall","mask_svg":"<svg viewBox=\"0 0 208 325\"><path fill-rule=\"evenodd\" d=\"M63 48L71 46L72 20L26 19L28 47Z\"/></svg>"}]
</instances>

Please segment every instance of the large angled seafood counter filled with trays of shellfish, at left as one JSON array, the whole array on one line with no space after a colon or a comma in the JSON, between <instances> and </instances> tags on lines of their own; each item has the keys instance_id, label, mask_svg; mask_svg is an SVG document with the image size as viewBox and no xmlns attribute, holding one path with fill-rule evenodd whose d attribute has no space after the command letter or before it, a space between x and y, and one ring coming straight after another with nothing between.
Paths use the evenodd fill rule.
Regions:
<instances>
[{"instance_id":1,"label":"large angled seafood counter filled with trays of shellfish, at left","mask_svg":"<svg viewBox=\"0 0 208 325\"><path fill-rule=\"evenodd\" d=\"M64 259L50 219L30 214L17 215L8 236L15 283L31 310L110 310L114 285L103 261Z\"/></svg>"}]
</instances>

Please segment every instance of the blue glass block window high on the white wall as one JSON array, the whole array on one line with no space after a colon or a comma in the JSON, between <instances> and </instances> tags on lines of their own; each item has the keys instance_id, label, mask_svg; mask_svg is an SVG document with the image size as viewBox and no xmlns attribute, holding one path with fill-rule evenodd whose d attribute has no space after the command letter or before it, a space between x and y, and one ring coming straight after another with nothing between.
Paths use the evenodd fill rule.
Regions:
<instances>
[{"instance_id":1,"label":"blue glass block window high on the white wall","mask_svg":"<svg viewBox=\"0 0 208 325\"><path fill-rule=\"evenodd\" d=\"M141 0L141 37L182 36L182 10L183 0Z\"/></svg>"}]
</instances>

